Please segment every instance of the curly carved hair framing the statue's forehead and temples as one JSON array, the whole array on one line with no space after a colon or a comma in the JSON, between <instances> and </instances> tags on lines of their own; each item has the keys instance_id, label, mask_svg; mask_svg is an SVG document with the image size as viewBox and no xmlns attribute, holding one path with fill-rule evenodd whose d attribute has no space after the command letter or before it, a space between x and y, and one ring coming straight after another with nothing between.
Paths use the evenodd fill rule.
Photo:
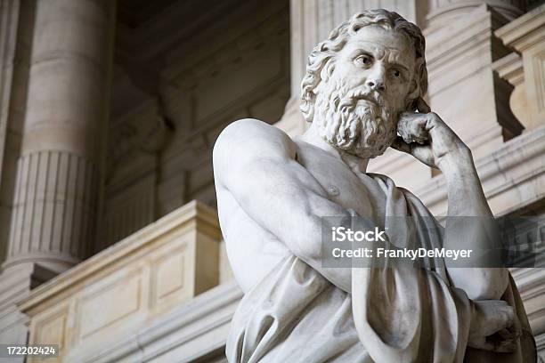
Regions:
<instances>
[{"instance_id":1,"label":"curly carved hair framing the statue's forehead and temples","mask_svg":"<svg viewBox=\"0 0 545 363\"><path fill-rule=\"evenodd\" d=\"M306 74L301 83L301 112L306 121L312 122L314 117L314 89L321 80L327 80L335 69L335 55L343 49L350 36L366 26L378 24L384 28L399 31L408 36L415 49L416 63L415 75L418 92L416 97L406 100L407 109L416 109L416 100L427 92L427 68L426 68L426 41L420 28L405 20L397 12L388 12L384 9L358 12L354 16L329 33L327 40L319 43L308 56Z\"/></svg>"}]
</instances>

